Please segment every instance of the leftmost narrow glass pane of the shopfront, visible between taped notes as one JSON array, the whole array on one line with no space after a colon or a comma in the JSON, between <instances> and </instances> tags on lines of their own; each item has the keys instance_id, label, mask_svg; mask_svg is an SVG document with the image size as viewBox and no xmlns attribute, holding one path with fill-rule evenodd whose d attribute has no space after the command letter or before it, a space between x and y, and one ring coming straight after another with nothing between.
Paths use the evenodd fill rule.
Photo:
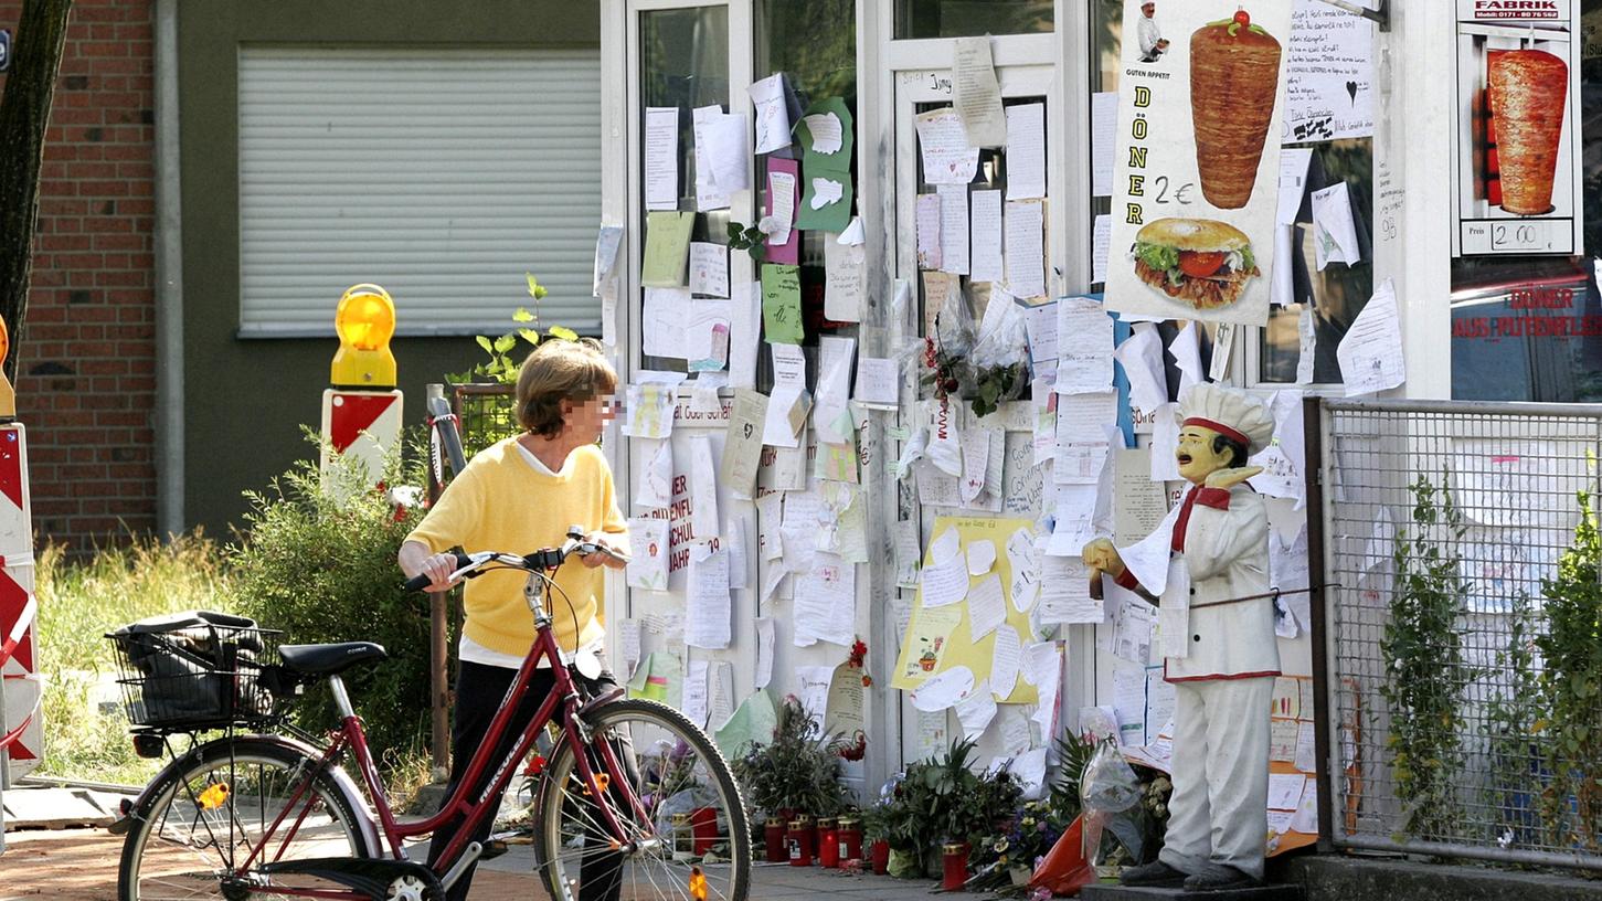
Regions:
<instances>
[{"instance_id":1,"label":"leftmost narrow glass pane of the shopfront, visible between taped notes","mask_svg":"<svg viewBox=\"0 0 1602 901\"><path fill-rule=\"evenodd\" d=\"M646 133L647 107L679 111L678 208L695 210L694 111L718 106L729 111L729 11L724 6L654 10L639 14L639 133ZM644 141L636 172L646 170ZM638 234L646 234L641 202ZM695 215L690 240L727 240L729 210ZM644 303L638 297L636 303ZM684 372L681 358L644 356L646 369Z\"/></svg>"}]
</instances>

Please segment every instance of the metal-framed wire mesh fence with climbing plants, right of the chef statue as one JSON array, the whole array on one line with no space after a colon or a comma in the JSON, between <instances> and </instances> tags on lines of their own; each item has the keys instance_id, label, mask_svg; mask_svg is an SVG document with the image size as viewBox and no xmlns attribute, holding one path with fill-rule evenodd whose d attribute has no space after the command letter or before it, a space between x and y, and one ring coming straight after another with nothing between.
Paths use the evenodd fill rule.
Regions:
<instances>
[{"instance_id":1,"label":"metal-framed wire mesh fence with climbing plants, right of the chef statue","mask_svg":"<svg viewBox=\"0 0 1602 901\"><path fill-rule=\"evenodd\" d=\"M1333 842L1602 869L1602 407L1320 420Z\"/></svg>"}]
</instances>

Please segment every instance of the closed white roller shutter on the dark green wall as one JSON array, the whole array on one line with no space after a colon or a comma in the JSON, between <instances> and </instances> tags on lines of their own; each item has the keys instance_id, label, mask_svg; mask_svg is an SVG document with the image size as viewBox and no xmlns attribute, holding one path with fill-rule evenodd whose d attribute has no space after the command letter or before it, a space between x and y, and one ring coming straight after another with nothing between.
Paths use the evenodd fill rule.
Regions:
<instances>
[{"instance_id":1,"label":"closed white roller shutter on the dark green wall","mask_svg":"<svg viewBox=\"0 0 1602 901\"><path fill-rule=\"evenodd\" d=\"M524 273L593 330L599 220L598 50L240 51L240 335L333 335L357 282L400 335L498 335Z\"/></svg>"}]
</instances>

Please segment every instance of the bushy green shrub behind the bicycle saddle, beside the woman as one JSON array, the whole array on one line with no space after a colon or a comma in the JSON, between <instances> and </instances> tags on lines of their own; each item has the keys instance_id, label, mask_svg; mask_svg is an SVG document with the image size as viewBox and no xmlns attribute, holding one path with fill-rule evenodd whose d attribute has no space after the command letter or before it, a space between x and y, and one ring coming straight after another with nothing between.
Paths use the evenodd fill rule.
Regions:
<instances>
[{"instance_id":1,"label":"bushy green shrub behind the bicycle saddle, beside the woman","mask_svg":"<svg viewBox=\"0 0 1602 901\"><path fill-rule=\"evenodd\" d=\"M421 470L402 471L397 457L386 473L386 484L423 484ZM428 600L400 588L396 564L423 511L397 513L351 459L338 459L327 479L314 462L298 462L245 497L245 527L229 548L239 606L282 628L285 643L383 644L388 659L348 670L344 681L375 757L402 754L429 728ZM325 683L308 689L296 715L314 731L333 723Z\"/></svg>"}]
</instances>

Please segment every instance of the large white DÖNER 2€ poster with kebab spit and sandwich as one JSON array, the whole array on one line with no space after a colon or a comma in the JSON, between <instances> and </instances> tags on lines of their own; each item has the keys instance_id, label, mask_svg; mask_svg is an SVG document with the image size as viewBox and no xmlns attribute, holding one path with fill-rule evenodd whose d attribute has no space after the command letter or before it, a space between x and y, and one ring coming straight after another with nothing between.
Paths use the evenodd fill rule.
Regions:
<instances>
[{"instance_id":1,"label":"large white D\u00d6NER 2\u20ac poster with kebab spit and sandwich","mask_svg":"<svg viewBox=\"0 0 1602 901\"><path fill-rule=\"evenodd\" d=\"M1291 0L1125 0L1107 308L1269 319Z\"/></svg>"}]
</instances>

